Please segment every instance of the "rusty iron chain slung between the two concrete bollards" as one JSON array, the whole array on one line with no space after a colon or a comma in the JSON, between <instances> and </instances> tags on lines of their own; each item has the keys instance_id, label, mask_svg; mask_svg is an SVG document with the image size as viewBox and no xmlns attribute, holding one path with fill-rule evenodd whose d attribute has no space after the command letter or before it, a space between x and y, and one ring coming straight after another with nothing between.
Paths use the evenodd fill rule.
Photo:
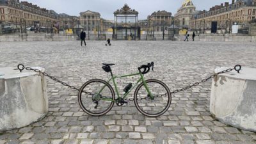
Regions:
<instances>
[{"instance_id":1,"label":"rusty iron chain slung between the two concrete bollards","mask_svg":"<svg viewBox=\"0 0 256 144\"><path fill-rule=\"evenodd\" d=\"M20 68L20 66L21 66L21 68ZM24 70L24 69L26 69L26 70L33 70L33 71L35 71L35 72L38 72L40 75L43 74L44 76L49 77L50 79L52 79L52 80L54 80L54 81L56 81L56 82L58 82L58 83L63 84L64 86L68 86L68 88L71 88L71 89L74 89L74 90L79 91L79 88L76 88L75 86L70 86L69 84L67 84L67 83L65 83L65 82L63 82L63 81L60 81L59 79L56 79L56 77L50 76L50 75L47 74L46 72L42 72L41 70L34 69L34 68L31 68L31 67L25 67L25 66L22 65L22 64L19 64L19 65L18 65L18 68L16 68L15 70L17 70L17 69L19 69L20 72L22 72L22 70ZM194 84L192 84L192 85L186 86L186 87L181 88L181 89L179 89L179 90L175 90L175 91L171 92L171 94L172 94L172 93L182 92L182 91L184 91L184 90L188 90L189 88L198 86L200 83L205 83L205 82L208 81L209 79L212 79L212 78L214 78L214 77L216 77L216 76L218 76L218 75L220 75L220 74L224 74L224 73L226 73L226 72L231 72L232 70L236 70L236 71L239 73L239 71L241 70L241 65L236 65L234 68L228 68L227 70L223 70L223 71L218 72L218 73L216 73L216 74L212 74L210 77L207 77L206 79L202 79L202 81L200 81L200 82L198 82L198 83L194 83ZM89 94L89 95L93 95L93 93L90 93L90 92L84 92L84 93ZM155 97L164 97L164 95L168 95L168 93L164 93L164 94L162 94L162 95L156 95ZM109 97L104 97L104 96L102 96L102 98L109 98ZM148 99L150 99L150 97L138 98L137 100L148 100ZM124 100L133 101L134 99L133 99L133 98L127 98L127 99L124 99Z\"/></svg>"}]
</instances>

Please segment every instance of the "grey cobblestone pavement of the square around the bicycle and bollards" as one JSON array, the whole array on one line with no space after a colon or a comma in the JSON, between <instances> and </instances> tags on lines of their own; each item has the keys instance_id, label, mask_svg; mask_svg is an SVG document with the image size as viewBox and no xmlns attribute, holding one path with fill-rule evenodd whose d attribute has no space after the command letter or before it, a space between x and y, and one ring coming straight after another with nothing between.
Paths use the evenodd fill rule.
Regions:
<instances>
[{"instance_id":1,"label":"grey cobblestone pavement of the square around the bicycle and bollards","mask_svg":"<svg viewBox=\"0 0 256 144\"><path fill-rule=\"evenodd\" d=\"M115 63L114 74L136 72L155 62L145 75L168 85L171 91L210 76L216 67L256 68L255 43L230 42L6 42L0 43L0 67L40 66L52 76L77 86L93 78L108 79L101 63ZM119 79L122 90L136 77ZM0 132L5 143L256 143L255 132L222 124L209 112L211 81L172 95L170 109L149 118L138 113L133 102L114 106L105 116L86 115L77 102L76 90L47 78L49 113L40 122ZM131 95L133 97L133 95Z\"/></svg>"}]
</instances>

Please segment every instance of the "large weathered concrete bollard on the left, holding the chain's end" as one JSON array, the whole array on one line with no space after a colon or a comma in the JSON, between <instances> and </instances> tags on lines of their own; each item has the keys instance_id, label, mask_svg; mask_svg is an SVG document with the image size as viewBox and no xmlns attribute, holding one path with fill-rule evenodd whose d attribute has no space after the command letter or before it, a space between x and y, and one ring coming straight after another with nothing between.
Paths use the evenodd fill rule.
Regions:
<instances>
[{"instance_id":1,"label":"large weathered concrete bollard on the left, holding the chain's end","mask_svg":"<svg viewBox=\"0 0 256 144\"><path fill-rule=\"evenodd\" d=\"M44 72L44 68L33 67ZM48 97L44 76L28 70L0 68L0 131L24 127L44 118Z\"/></svg>"}]
</instances>

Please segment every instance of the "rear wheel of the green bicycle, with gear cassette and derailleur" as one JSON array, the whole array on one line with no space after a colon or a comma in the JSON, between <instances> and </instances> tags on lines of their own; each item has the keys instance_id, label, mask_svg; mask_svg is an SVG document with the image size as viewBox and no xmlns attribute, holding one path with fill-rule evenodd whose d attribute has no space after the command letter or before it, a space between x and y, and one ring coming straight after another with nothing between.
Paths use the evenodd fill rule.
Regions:
<instances>
[{"instance_id":1,"label":"rear wheel of the green bicycle, with gear cassette and derailleur","mask_svg":"<svg viewBox=\"0 0 256 144\"><path fill-rule=\"evenodd\" d=\"M83 111L89 115L105 115L115 104L115 92L106 81L92 79L80 88L78 102Z\"/></svg>"}]
</instances>

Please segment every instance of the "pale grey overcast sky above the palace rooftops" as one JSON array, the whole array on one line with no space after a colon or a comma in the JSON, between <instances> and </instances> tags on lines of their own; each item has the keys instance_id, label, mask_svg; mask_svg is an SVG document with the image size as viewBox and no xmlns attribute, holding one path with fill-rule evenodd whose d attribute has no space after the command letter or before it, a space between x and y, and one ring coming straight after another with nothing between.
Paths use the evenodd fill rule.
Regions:
<instances>
[{"instance_id":1,"label":"pale grey overcast sky above the palace rooftops","mask_svg":"<svg viewBox=\"0 0 256 144\"><path fill-rule=\"evenodd\" d=\"M91 10L99 12L103 19L113 20L117 9L125 3L130 8L139 12L139 19L147 19L148 15L157 10L166 10L173 15L185 0L26 0L29 3L37 4L41 8L54 10L57 13L67 13L68 15L79 16L80 12ZM231 0L193 0L196 10L209 10L211 6L220 5Z\"/></svg>"}]
</instances>

